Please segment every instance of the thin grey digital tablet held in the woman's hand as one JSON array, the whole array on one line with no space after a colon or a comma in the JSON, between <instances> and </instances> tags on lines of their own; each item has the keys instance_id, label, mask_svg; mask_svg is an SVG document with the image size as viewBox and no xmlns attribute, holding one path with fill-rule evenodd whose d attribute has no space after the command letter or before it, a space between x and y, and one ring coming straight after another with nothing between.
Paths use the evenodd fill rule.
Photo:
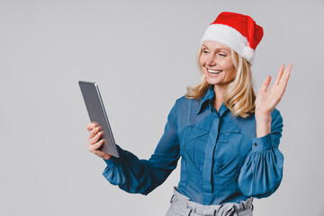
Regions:
<instances>
[{"instance_id":1,"label":"thin grey digital tablet held in the woman's hand","mask_svg":"<svg viewBox=\"0 0 324 216\"><path fill-rule=\"evenodd\" d=\"M119 157L118 149L116 148L116 143L112 136L112 129L103 107L103 100L98 85L96 83L84 81L79 81L78 83L85 100L85 106L90 121L98 125L100 130L103 132L101 136L101 139L103 139L103 145L99 149L114 157Z\"/></svg>"}]
</instances>

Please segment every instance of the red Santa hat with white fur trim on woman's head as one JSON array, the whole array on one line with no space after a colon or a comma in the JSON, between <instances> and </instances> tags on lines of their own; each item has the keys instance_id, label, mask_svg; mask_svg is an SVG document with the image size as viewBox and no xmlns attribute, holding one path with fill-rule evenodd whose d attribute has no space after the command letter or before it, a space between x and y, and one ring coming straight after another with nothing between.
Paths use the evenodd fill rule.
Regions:
<instances>
[{"instance_id":1,"label":"red Santa hat with white fur trim on woman's head","mask_svg":"<svg viewBox=\"0 0 324 216\"><path fill-rule=\"evenodd\" d=\"M252 63L263 34L263 28L248 15L223 12L204 32L202 43L206 40L219 42Z\"/></svg>"}]
</instances>

